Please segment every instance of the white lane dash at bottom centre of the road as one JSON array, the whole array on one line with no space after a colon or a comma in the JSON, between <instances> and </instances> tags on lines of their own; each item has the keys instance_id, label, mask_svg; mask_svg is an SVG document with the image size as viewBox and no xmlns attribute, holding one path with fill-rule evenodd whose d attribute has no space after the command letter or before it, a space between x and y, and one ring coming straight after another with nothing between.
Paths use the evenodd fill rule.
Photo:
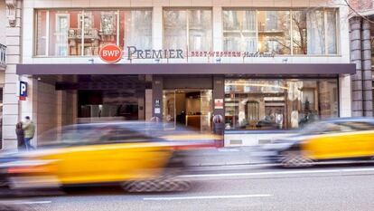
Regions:
<instances>
[{"instance_id":1,"label":"white lane dash at bottom centre of the road","mask_svg":"<svg viewBox=\"0 0 374 211\"><path fill-rule=\"evenodd\" d=\"M145 197L143 200L167 201L167 200L193 200L193 199L224 199L245 197L272 197L270 194L232 195L232 196L195 196L195 197Z\"/></svg>"}]
</instances>

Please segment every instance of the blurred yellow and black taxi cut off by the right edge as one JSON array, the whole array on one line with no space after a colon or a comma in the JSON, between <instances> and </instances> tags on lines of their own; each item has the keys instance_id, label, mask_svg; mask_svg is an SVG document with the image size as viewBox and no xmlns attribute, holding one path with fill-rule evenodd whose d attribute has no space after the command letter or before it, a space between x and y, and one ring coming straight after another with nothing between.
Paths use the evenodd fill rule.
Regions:
<instances>
[{"instance_id":1,"label":"blurred yellow and black taxi cut off by the right edge","mask_svg":"<svg viewBox=\"0 0 374 211\"><path fill-rule=\"evenodd\" d=\"M374 119L342 118L307 126L295 136L264 146L263 155L284 167L307 167L316 161L374 157Z\"/></svg>"}]
</instances>

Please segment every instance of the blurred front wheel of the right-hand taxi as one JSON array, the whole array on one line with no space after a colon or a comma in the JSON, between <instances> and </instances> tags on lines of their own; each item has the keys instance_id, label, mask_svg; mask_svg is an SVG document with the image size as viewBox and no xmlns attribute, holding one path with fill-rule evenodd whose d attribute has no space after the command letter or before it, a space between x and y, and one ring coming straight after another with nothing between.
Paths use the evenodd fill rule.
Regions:
<instances>
[{"instance_id":1,"label":"blurred front wheel of the right-hand taxi","mask_svg":"<svg viewBox=\"0 0 374 211\"><path fill-rule=\"evenodd\" d=\"M288 150L282 152L279 162L284 168L302 168L313 166L313 159L305 158L298 150Z\"/></svg>"}]
</instances>

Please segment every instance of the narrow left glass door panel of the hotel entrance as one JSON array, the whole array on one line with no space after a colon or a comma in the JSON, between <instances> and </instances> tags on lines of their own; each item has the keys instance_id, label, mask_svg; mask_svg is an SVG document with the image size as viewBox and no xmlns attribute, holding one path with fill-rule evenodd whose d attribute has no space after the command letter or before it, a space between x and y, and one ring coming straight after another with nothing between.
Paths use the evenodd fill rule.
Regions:
<instances>
[{"instance_id":1,"label":"narrow left glass door panel of the hotel entrance","mask_svg":"<svg viewBox=\"0 0 374 211\"><path fill-rule=\"evenodd\" d=\"M175 129L176 110L175 110L175 90L164 91L163 93L163 120L166 123L166 129Z\"/></svg>"}]
</instances>

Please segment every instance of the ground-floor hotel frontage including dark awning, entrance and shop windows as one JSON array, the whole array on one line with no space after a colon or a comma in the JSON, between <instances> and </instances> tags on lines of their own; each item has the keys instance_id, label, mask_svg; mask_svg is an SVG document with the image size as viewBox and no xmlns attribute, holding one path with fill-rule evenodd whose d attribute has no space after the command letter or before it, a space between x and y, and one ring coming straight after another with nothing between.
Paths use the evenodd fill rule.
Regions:
<instances>
[{"instance_id":1,"label":"ground-floor hotel frontage including dark awning, entrance and shop windows","mask_svg":"<svg viewBox=\"0 0 374 211\"><path fill-rule=\"evenodd\" d=\"M17 73L29 91L20 118L31 116L38 134L160 120L170 129L220 128L226 146L256 145L313 120L350 116L353 72L351 64L22 64Z\"/></svg>"}]
</instances>

